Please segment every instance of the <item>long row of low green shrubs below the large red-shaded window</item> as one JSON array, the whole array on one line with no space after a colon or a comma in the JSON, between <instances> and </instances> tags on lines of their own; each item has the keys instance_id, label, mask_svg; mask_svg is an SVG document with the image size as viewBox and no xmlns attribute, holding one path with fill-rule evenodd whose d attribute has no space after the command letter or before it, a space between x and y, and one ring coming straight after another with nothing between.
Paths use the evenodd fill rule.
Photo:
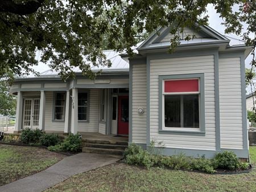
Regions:
<instances>
[{"instance_id":1,"label":"long row of low green shrubs below the large red-shaded window","mask_svg":"<svg viewBox=\"0 0 256 192\"><path fill-rule=\"evenodd\" d=\"M125 162L130 165L140 165L146 168L158 166L160 168L199 170L205 173L215 173L216 169L245 170L249 164L240 162L233 152L218 153L213 159L204 156L199 158L187 157L183 153L174 156L151 155L140 146L131 144L125 150Z\"/></svg>"}]
</instances>

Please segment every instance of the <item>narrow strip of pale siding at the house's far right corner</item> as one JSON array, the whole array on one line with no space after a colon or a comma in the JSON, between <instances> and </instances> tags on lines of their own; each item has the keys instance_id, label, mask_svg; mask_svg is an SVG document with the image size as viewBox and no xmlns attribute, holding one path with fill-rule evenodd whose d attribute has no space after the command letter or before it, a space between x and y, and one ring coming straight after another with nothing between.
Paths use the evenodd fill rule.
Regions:
<instances>
[{"instance_id":1,"label":"narrow strip of pale siding at the house's far right corner","mask_svg":"<svg viewBox=\"0 0 256 192\"><path fill-rule=\"evenodd\" d=\"M219 60L221 148L242 149L240 57Z\"/></svg>"}]
</instances>

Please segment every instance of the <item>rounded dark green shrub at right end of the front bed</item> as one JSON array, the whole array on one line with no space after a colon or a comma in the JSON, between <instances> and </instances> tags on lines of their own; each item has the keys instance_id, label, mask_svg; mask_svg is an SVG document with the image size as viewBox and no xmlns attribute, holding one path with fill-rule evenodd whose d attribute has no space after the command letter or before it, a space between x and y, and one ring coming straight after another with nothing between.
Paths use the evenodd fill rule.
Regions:
<instances>
[{"instance_id":1,"label":"rounded dark green shrub at right end of the front bed","mask_svg":"<svg viewBox=\"0 0 256 192\"><path fill-rule=\"evenodd\" d=\"M217 153L213 159L213 165L218 169L236 170L237 168L240 168L240 161L234 152L224 151L222 153Z\"/></svg>"}]
</instances>

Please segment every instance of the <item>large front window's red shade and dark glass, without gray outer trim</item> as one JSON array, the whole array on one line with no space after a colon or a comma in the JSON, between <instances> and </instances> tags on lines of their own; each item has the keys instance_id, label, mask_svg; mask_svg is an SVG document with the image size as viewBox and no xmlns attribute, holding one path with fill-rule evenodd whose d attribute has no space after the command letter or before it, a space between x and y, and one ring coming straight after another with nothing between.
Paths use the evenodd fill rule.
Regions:
<instances>
[{"instance_id":1,"label":"large front window's red shade and dark glass, without gray outer trim","mask_svg":"<svg viewBox=\"0 0 256 192\"><path fill-rule=\"evenodd\" d=\"M199 79L164 80L164 127L199 128Z\"/></svg>"}]
</instances>

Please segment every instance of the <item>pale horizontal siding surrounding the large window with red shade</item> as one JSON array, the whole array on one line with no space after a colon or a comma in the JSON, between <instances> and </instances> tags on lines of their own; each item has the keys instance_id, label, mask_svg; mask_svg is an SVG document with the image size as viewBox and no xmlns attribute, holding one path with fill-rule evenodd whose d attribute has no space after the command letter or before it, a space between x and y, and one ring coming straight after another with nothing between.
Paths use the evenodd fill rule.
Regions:
<instances>
[{"instance_id":1,"label":"pale horizontal siding surrounding the large window with red shade","mask_svg":"<svg viewBox=\"0 0 256 192\"><path fill-rule=\"evenodd\" d=\"M205 136L159 133L159 75L204 73ZM163 141L165 147L216 149L214 106L214 56L150 60L150 140Z\"/></svg>"}]
</instances>

